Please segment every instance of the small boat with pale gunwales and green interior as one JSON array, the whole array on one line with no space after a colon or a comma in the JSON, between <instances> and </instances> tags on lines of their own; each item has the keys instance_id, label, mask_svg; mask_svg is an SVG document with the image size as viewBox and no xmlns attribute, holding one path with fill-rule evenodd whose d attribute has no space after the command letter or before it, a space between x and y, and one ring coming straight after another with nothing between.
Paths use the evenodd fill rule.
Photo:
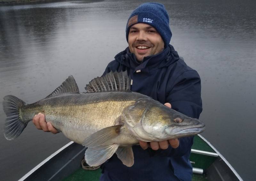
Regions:
<instances>
[{"instance_id":1,"label":"small boat with pale gunwales and green interior","mask_svg":"<svg viewBox=\"0 0 256 181\"><path fill-rule=\"evenodd\" d=\"M97 181L101 169L81 164L85 150L84 146L71 141L39 163L19 181ZM228 161L200 134L194 138L189 160L193 166L192 181L243 180Z\"/></svg>"}]
</instances>

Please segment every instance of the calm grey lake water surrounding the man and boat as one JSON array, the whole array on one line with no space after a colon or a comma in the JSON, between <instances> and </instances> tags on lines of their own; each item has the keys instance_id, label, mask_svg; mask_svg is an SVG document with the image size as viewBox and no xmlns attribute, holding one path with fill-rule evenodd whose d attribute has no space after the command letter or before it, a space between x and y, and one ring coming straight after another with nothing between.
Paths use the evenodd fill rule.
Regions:
<instances>
[{"instance_id":1,"label":"calm grey lake water surrounding the man and boat","mask_svg":"<svg viewBox=\"0 0 256 181\"><path fill-rule=\"evenodd\" d=\"M256 180L256 2L172 0L171 44L202 79L202 134L244 180ZM50 94L68 75L80 91L127 46L127 18L137 1L47 1L0 6L0 98L27 103ZM17 180L69 142L29 123L19 138L2 133L0 175ZM2 135L2 136L1 136Z\"/></svg>"}]
</instances>

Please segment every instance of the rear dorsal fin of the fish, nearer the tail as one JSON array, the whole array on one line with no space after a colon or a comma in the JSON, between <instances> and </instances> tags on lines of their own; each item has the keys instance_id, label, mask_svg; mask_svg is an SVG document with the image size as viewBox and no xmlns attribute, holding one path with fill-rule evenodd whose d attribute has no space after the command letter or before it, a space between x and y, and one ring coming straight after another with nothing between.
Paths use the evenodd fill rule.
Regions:
<instances>
[{"instance_id":1,"label":"rear dorsal fin of the fish, nearer the tail","mask_svg":"<svg viewBox=\"0 0 256 181\"><path fill-rule=\"evenodd\" d=\"M51 97L59 96L61 94L66 94L66 93L69 93L69 94L79 93L78 86L72 75L69 75L68 78L46 98L51 98Z\"/></svg>"}]
</instances>

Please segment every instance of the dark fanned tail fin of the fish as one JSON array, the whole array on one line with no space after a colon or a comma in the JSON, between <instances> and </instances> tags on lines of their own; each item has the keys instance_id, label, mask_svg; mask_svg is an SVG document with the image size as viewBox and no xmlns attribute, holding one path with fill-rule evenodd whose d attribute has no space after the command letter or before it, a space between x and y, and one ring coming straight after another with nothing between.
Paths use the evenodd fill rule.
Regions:
<instances>
[{"instance_id":1,"label":"dark fanned tail fin of the fish","mask_svg":"<svg viewBox=\"0 0 256 181\"><path fill-rule=\"evenodd\" d=\"M20 119L19 109L26 103L15 96L5 96L3 101L3 109L7 116L4 123L4 137L8 140L12 140L20 136L24 128L26 128L26 122Z\"/></svg>"}]
</instances>

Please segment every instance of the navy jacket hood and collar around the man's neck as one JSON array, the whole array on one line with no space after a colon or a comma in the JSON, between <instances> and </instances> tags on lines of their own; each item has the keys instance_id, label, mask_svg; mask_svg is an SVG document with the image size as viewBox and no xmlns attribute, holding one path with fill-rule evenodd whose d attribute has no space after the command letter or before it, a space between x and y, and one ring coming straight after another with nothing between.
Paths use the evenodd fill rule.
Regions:
<instances>
[{"instance_id":1,"label":"navy jacket hood and collar around the man's neck","mask_svg":"<svg viewBox=\"0 0 256 181\"><path fill-rule=\"evenodd\" d=\"M138 61L135 54L129 51L129 47L115 56L116 61L134 71L144 69L145 67L149 70L167 67L179 59L180 57L178 52L175 51L173 46L170 44L164 49L164 51L156 55L144 57L142 62Z\"/></svg>"}]
</instances>

